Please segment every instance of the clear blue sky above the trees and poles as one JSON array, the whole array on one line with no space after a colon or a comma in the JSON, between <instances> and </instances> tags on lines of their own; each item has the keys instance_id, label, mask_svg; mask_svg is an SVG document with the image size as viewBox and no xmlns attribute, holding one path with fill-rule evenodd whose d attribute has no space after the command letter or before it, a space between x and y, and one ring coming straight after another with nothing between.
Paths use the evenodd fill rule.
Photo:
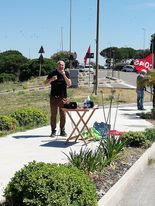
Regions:
<instances>
[{"instance_id":1,"label":"clear blue sky above the trees and poles","mask_svg":"<svg viewBox=\"0 0 155 206\"><path fill-rule=\"evenodd\" d=\"M99 11L99 52L150 47L154 0L100 0ZM43 56L50 58L71 47L83 63L89 45L96 54L96 19L97 0L0 0L0 52L18 50L33 59L43 46ZM104 64L100 55L99 64Z\"/></svg>"}]
</instances>

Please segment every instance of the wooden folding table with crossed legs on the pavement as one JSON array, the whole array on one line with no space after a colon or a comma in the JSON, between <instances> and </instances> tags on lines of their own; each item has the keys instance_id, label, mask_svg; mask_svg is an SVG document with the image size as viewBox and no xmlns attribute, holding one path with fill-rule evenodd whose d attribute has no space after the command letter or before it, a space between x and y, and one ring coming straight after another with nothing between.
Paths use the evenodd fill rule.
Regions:
<instances>
[{"instance_id":1,"label":"wooden folding table with crossed legs on the pavement","mask_svg":"<svg viewBox=\"0 0 155 206\"><path fill-rule=\"evenodd\" d=\"M76 109L62 108L62 110L64 112L66 112L66 114L69 116L71 122L74 125L73 130L72 130L71 134L69 135L68 139L66 140L65 144L67 144L69 142L69 140L75 139L75 142L76 142L77 139L80 138L87 145L87 143L82 135L82 132L86 128L86 130L90 134L90 137L92 136L87 124L88 124L90 118L92 117L92 115L94 114L96 109L98 109L97 105L94 106L93 108L76 108ZM71 114L72 112L75 112L79 118L76 118L76 119L73 118L72 114ZM87 116L86 116L86 113L88 114ZM79 128L81 123L83 126L81 128ZM74 136L75 131L77 131L78 134Z\"/></svg>"}]
</instances>

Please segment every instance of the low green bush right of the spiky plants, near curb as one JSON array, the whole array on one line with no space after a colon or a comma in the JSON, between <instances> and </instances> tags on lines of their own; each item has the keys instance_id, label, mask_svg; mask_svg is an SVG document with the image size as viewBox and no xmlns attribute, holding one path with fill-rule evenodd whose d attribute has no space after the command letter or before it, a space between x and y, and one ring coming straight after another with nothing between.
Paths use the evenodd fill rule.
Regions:
<instances>
[{"instance_id":1,"label":"low green bush right of the spiky plants, near curb","mask_svg":"<svg viewBox=\"0 0 155 206\"><path fill-rule=\"evenodd\" d=\"M127 146L129 147L143 147L148 148L151 142L145 137L144 132L129 131L122 135L122 138L127 140Z\"/></svg>"}]
</instances>

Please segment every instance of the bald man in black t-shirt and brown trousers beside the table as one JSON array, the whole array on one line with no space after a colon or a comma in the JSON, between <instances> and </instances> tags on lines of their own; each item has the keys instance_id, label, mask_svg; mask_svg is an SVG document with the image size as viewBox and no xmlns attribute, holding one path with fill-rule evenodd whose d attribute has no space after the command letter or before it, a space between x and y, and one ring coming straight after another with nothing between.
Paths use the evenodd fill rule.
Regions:
<instances>
[{"instance_id":1,"label":"bald man in black t-shirt and brown trousers beside the table","mask_svg":"<svg viewBox=\"0 0 155 206\"><path fill-rule=\"evenodd\" d=\"M58 61L57 68L45 80L45 85L51 84L50 109L51 109L51 137L56 135L57 113L60 114L60 135L66 136L66 115L61 108L67 102L67 87L71 86L69 73L65 71L65 62Z\"/></svg>"}]
</instances>

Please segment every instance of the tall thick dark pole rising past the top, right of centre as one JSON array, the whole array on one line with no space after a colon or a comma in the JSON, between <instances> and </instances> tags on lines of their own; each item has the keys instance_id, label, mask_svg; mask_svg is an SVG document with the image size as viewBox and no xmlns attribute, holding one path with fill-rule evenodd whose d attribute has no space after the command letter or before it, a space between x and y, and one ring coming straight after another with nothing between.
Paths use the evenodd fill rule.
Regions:
<instances>
[{"instance_id":1,"label":"tall thick dark pole rising past the top, right of centre","mask_svg":"<svg viewBox=\"0 0 155 206\"><path fill-rule=\"evenodd\" d=\"M96 81L95 81L95 95L98 93L98 53L99 53L99 13L100 12L100 0L97 0L97 21L96 21Z\"/></svg>"}]
</instances>

